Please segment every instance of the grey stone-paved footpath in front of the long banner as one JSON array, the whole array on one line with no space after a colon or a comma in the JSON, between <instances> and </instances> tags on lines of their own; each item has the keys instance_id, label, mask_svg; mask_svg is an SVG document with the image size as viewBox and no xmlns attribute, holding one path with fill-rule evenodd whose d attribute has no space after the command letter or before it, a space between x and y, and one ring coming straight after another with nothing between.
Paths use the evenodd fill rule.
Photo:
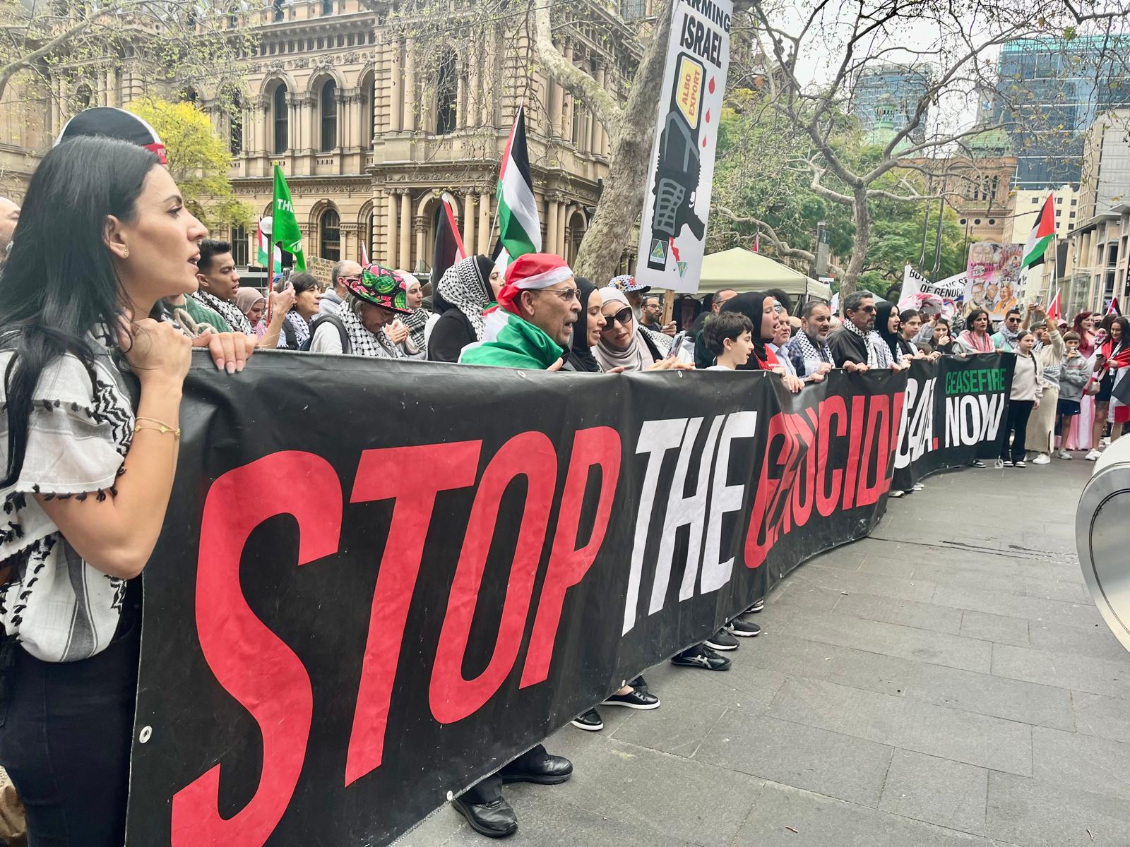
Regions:
<instances>
[{"instance_id":1,"label":"grey stone-paved footpath in front of the long banner","mask_svg":"<svg viewBox=\"0 0 1130 847\"><path fill-rule=\"evenodd\" d=\"M508 845L1130 845L1130 654L1083 584L1094 466L965 470L892 500L754 617L727 673L658 666L655 711L548 742ZM445 807L408 847L485 847Z\"/></svg>"}]
</instances>

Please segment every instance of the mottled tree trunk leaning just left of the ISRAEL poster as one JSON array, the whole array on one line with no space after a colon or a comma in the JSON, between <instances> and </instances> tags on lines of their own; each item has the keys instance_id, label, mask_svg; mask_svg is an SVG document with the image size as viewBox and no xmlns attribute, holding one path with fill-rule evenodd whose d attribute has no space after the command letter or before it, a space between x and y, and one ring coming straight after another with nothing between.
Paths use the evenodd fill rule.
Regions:
<instances>
[{"instance_id":1,"label":"mottled tree trunk leaning just left of the ISRAEL poster","mask_svg":"<svg viewBox=\"0 0 1130 847\"><path fill-rule=\"evenodd\" d=\"M651 143L671 29L670 2L657 6L655 33L636 69L628 101L616 123L607 128L611 150L605 191L576 256L577 276L598 287L616 276L625 246L635 246L629 239L643 211L644 189L655 164Z\"/></svg>"}]
</instances>

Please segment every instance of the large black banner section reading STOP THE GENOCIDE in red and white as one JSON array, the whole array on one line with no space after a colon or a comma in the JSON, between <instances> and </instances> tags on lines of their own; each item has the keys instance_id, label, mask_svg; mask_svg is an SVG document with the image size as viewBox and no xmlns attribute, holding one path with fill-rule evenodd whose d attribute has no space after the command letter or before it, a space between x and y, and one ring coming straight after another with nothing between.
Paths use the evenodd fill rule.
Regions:
<instances>
[{"instance_id":1,"label":"large black banner section reading STOP THE GENOCIDE in red and white","mask_svg":"<svg viewBox=\"0 0 1130 847\"><path fill-rule=\"evenodd\" d=\"M128 844L381 845L883 514L905 374L194 366Z\"/></svg>"}]
</instances>

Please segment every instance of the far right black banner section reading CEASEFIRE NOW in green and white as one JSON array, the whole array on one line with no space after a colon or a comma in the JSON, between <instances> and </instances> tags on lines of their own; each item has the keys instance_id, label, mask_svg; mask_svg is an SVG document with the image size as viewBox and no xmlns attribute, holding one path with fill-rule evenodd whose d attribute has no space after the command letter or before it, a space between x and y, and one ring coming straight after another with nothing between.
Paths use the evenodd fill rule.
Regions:
<instances>
[{"instance_id":1,"label":"far right black banner section reading CEASEFIRE NOW in green and white","mask_svg":"<svg viewBox=\"0 0 1130 847\"><path fill-rule=\"evenodd\" d=\"M974 459L997 459L1005 438L1012 353L915 359L906 379L893 487Z\"/></svg>"}]
</instances>

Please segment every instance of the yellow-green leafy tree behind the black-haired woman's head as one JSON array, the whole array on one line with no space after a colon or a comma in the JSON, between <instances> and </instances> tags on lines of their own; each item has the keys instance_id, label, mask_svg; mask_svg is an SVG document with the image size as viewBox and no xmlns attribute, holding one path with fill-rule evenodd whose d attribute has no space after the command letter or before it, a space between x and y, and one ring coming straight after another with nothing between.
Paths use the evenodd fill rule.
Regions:
<instances>
[{"instance_id":1,"label":"yellow-green leafy tree behind the black-haired woman's head","mask_svg":"<svg viewBox=\"0 0 1130 847\"><path fill-rule=\"evenodd\" d=\"M156 97L134 101L129 110L145 119L160 136L168 171L185 206L209 229L247 225L254 211L235 197L227 169L227 143L212 130L208 115L192 103L169 103Z\"/></svg>"}]
</instances>

